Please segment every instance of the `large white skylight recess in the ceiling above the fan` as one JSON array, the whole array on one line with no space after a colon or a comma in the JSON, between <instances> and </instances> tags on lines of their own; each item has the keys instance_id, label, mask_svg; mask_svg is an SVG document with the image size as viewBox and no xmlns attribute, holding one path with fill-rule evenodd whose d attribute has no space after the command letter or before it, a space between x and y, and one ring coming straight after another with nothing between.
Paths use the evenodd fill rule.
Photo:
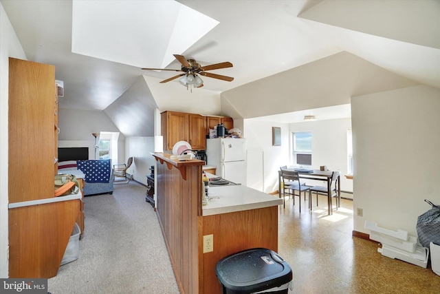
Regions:
<instances>
[{"instance_id":1,"label":"large white skylight recess in the ceiling above the fan","mask_svg":"<svg viewBox=\"0 0 440 294\"><path fill-rule=\"evenodd\" d=\"M72 52L162 68L217 24L176 1L74 0Z\"/></svg>"}]
</instances>

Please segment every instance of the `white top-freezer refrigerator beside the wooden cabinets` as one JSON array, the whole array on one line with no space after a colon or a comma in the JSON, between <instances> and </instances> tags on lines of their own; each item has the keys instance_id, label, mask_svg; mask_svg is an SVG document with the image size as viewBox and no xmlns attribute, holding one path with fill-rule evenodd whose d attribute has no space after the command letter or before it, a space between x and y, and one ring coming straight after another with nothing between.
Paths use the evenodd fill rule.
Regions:
<instances>
[{"instance_id":1,"label":"white top-freezer refrigerator beside the wooden cabinets","mask_svg":"<svg viewBox=\"0 0 440 294\"><path fill-rule=\"evenodd\" d=\"M246 140L243 138L206 139L206 164L215 174L236 184L246 185Z\"/></svg>"}]
</instances>

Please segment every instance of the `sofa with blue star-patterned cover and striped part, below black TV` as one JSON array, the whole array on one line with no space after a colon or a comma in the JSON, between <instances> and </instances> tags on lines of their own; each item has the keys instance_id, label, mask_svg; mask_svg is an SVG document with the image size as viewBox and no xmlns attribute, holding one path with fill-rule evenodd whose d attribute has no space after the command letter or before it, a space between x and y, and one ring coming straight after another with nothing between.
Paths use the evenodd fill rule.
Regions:
<instances>
[{"instance_id":1,"label":"sofa with blue star-patterned cover and striped part, below black TV","mask_svg":"<svg viewBox=\"0 0 440 294\"><path fill-rule=\"evenodd\" d=\"M111 159L58 162L58 173L62 171L69 174L72 169L78 169L85 174L84 196L113 193Z\"/></svg>"}]
</instances>

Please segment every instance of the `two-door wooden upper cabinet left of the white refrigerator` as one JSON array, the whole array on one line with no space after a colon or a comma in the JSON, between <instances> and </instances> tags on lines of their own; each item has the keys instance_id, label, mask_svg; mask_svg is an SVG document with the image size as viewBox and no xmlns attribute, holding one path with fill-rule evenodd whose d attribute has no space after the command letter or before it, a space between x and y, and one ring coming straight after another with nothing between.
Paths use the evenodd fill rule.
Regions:
<instances>
[{"instance_id":1,"label":"two-door wooden upper cabinet left of the white refrigerator","mask_svg":"<svg viewBox=\"0 0 440 294\"><path fill-rule=\"evenodd\" d=\"M162 112L161 129L164 150L173 150L175 143L186 141L195 150L206 149L206 117L184 112Z\"/></svg>"}]
</instances>

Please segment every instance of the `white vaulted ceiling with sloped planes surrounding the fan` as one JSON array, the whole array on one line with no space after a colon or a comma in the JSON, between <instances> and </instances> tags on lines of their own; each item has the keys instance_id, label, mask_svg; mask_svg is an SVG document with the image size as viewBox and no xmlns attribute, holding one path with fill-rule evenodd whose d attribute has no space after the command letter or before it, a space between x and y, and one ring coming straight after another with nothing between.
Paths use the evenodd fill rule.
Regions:
<instances>
[{"instance_id":1,"label":"white vaulted ceiling with sloped planes surrounding the fan","mask_svg":"<svg viewBox=\"0 0 440 294\"><path fill-rule=\"evenodd\" d=\"M222 96L234 115L253 118L417 83L440 88L440 1L159 2L171 8L148 6L157 1L1 0L28 59L56 66L65 83L60 107L104 110L126 136L151 136L145 125L152 118L139 118L141 110L189 109L207 97L207 114L218 111ZM188 11L204 16L182 17ZM203 25L205 16L214 21ZM172 54L202 65L230 61L234 67L215 73L234 81L203 78L191 94L177 80L158 83L173 72L140 70L178 69ZM281 100L250 101L257 90ZM301 98L286 108L292 93ZM186 102L177 106L181 97ZM126 118L140 127L127 129Z\"/></svg>"}]
</instances>

